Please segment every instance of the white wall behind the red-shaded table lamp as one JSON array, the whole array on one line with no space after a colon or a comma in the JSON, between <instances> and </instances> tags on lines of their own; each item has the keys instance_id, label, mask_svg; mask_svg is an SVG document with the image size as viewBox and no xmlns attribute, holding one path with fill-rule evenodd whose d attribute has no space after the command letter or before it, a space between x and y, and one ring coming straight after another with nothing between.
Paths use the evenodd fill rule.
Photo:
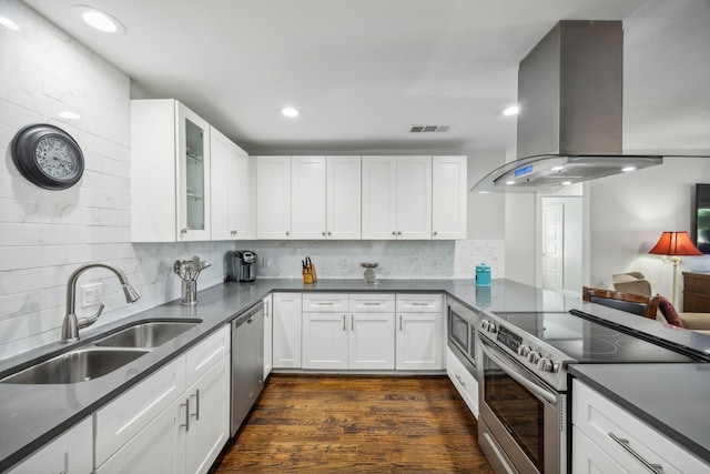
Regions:
<instances>
[{"instance_id":1,"label":"white wall behind the red-shaded table lamp","mask_svg":"<svg viewBox=\"0 0 710 474\"><path fill-rule=\"evenodd\" d=\"M663 231L694 233L694 184L710 183L710 158L667 158L660 167L589 183L591 279L612 288L611 275L639 271L655 293L670 299L672 268L648 251ZM710 256L689 256L678 268L682 301L682 271L710 271Z\"/></svg>"}]
</instances>

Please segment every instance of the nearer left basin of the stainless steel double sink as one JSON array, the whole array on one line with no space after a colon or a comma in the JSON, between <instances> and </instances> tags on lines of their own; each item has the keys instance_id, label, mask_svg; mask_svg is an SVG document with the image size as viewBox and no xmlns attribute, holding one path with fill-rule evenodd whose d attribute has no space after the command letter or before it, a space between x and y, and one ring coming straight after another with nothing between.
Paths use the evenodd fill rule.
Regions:
<instances>
[{"instance_id":1,"label":"nearer left basin of the stainless steel double sink","mask_svg":"<svg viewBox=\"0 0 710 474\"><path fill-rule=\"evenodd\" d=\"M65 384L84 382L113 372L148 352L138 349L77 349L7 376L0 380L0 383Z\"/></svg>"}]
</instances>

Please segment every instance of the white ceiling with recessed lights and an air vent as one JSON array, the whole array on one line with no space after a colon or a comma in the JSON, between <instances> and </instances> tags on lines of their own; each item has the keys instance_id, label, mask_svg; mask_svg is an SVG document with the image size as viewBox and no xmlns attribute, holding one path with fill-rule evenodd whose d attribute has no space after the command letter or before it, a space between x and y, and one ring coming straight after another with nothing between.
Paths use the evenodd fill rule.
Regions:
<instances>
[{"instance_id":1,"label":"white ceiling with recessed lights and an air vent","mask_svg":"<svg viewBox=\"0 0 710 474\"><path fill-rule=\"evenodd\" d=\"M511 149L520 59L560 19L623 20L625 149L710 150L708 0L24 1L134 98L176 98L251 153ZM89 29L78 3L128 33Z\"/></svg>"}]
</instances>

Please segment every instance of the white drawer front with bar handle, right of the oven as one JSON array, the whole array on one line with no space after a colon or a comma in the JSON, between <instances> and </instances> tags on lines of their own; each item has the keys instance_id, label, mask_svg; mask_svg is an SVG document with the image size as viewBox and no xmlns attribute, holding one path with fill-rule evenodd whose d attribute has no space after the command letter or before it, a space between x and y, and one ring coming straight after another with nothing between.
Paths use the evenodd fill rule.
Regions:
<instances>
[{"instance_id":1,"label":"white drawer front with bar handle, right of the oven","mask_svg":"<svg viewBox=\"0 0 710 474\"><path fill-rule=\"evenodd\" d=\"M631 471L641 472L645 467L621 445L621 440L650 464L662 466L665 474L710 473L710 466L692 453L577 379L572 382L572 424Z\"/></svg>"}]
</instances>

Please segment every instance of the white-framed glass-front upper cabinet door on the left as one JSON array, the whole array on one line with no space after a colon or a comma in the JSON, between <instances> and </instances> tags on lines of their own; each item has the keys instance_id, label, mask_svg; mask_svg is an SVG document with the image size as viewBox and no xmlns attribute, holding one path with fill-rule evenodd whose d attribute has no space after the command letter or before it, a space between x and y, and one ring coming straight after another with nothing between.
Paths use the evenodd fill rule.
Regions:
<instances>
[{"instance_id":1,"label":"white-framed glass-front upper cabinet door on the left","mask_svg":"<svg viewBox=\"0 0 710 474\"><path fill-rule=\"evenodd\" d=\"M210 124L178 107L178 240L210 239Z\"/></svg>"}]
</instances>

